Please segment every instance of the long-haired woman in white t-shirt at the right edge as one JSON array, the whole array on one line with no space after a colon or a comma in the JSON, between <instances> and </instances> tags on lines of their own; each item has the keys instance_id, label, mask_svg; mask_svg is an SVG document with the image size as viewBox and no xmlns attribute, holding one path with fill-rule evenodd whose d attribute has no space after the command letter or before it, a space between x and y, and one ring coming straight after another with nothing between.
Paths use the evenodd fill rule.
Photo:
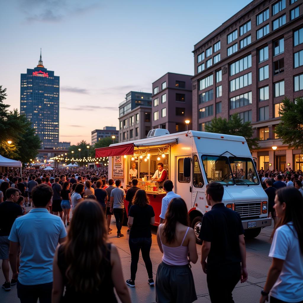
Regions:
<instances>
[{"instance_id":1,"label":"long-haired woman in white t-shirt at the right edge","mask_svg":"<svg viewBox=\"0 0 303 303\"><path fill-rule=\"evenodd\" d=\"M280 222L271 236L273 258L260 303L303 302L303 197L294 187L276 192L276 215Z\"/></svg>"}]
</instances>

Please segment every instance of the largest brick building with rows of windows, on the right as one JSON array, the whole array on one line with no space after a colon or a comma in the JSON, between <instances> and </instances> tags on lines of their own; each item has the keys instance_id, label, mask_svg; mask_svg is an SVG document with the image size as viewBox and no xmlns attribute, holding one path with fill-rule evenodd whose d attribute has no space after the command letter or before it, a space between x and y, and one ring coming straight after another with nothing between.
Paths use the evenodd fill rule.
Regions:
<instances>
[{"instance_id":1,"label":"largest brick building with rows of windows, on the right","mask_svg":"<svg viewBox=\"0 0 303 303\"><path fill-rule=\"evenodd\" d=\"M258 169L303 170L301 150L275 135L285 97L303 95L302 0L255 0L195 45L192 78L193 129L215 117L238 113L250 121L261 148ZM299 121L294 121L294 127ZM277 146L274 151L272 146Z\"/></svg>"}]
</instances>

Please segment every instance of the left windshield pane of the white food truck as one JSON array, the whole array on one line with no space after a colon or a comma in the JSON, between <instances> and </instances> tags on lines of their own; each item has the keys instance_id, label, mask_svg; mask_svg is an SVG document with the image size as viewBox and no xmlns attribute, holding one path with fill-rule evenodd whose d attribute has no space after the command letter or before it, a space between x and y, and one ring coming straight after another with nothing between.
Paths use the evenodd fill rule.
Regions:
<instances>
[{"instance_id":1,"label":"left windshield pane of the white food truck","mask_svg":"<svg viewBox=\"0 0 303 303\"><path fill-rule=\"evenodd\" d=\"M222 185L234 185L227 157L202 156L208 182L218 182Z\"/></svg>"}]
</instances>

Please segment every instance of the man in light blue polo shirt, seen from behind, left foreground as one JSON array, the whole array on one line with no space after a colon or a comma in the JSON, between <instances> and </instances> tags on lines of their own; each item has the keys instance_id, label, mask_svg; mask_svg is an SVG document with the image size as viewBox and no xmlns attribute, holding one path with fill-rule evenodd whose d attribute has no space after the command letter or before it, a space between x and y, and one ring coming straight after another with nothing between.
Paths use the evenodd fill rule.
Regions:
<instances>
[{"instance_id":1,"label":"man in light blue polo shirt, seen from behind, left foreground","mask_svg":"<svg viewBox=\"0 0 303 303\"><path fill-rule=\"evenodd\" d=\"M47 184L32 190L34 208L15 220L10 240L9 262L13 279L18 278L17 293L22 302L51 302L53 282L53 259L58 243L65 241L66 230L60 217L52 215L47 208L52 201L52 188ZM28 232L28 226L31 232ZM21 246L19 273L18 249Z\"/></svg>"}]
</instances>

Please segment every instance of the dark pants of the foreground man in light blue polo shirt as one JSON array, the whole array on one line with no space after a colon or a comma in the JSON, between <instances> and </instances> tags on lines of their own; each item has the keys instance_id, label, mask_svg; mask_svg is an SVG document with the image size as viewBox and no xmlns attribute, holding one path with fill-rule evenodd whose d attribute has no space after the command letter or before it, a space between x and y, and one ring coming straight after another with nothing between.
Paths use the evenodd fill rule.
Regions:
<instances>
[{"instance_id":1,"label":"dark pants of the foreground man in light blue polo shirt","mask_svg":"<svg viewBox=\"0 0 303 303\"><path fill-rule=\"evenodd\" d=\"M53 282L37 285L23 285L17 282L17 294L21 303L51 303Z\"/></svg>"}]
</instances>

